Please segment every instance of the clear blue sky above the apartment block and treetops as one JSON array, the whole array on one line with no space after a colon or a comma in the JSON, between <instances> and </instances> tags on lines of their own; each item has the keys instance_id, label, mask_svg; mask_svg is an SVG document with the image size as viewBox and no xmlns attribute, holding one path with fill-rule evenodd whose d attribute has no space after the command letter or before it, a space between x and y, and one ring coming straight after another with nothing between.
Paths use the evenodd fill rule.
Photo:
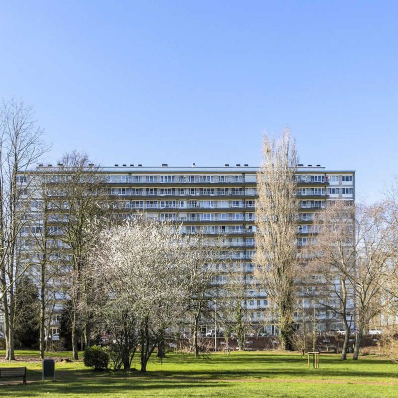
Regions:
<instances>
[{"instance_id":1,"label":"clear blue sky above the apartment block and treetops","mask_svg":"<svg viewBox=\"0 0 398 398\"><path fill-rule=\"evenodd\" d=\"M301 163L397 172L398 3L5 1L0 96L102 165L257 165L289 124Z\"/></svg>"}]
</instances>

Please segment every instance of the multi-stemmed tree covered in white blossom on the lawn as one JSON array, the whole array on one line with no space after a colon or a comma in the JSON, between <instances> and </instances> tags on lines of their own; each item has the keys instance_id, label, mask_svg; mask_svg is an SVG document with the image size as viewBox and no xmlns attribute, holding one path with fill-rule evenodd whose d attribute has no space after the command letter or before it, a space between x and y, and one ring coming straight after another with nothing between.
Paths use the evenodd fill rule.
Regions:
<instances>
[{"instance_id":1,"label":"multi-stemmed tree covered in white blossom on the lawn","mask_svg":"<svg viewBox=\"0 0 398 398\"><path fill-rule=\"evenodd\" d=\"M100 231L91 273L101 280L105 324L129 368L140 346L141 371L167 329L184 311L189 296L189 238L180 227L145 214ZM113 330L112 330L113 328Z\"/></svg>"}]
</instances>

